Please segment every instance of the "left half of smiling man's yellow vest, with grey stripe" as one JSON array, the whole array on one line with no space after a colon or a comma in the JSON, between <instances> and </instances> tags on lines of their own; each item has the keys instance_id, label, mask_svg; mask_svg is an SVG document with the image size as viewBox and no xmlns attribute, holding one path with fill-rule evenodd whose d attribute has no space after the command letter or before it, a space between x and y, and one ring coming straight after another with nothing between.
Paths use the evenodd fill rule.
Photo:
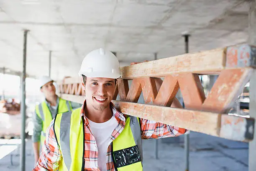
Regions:
<instances>
[{"instance_id":1,"label":"left half of smiling man's yellow vest, with grey stripe","mask_svg":"<svg viewBox=\"0 0 256 171\"><path fill-rule=\"evenodd\" d=\"M54 133L63 159L60 161L59 171L84 170L84 124L80 111L81 108L78 108L55 117Z\"/></svg>"}]
</instances>

